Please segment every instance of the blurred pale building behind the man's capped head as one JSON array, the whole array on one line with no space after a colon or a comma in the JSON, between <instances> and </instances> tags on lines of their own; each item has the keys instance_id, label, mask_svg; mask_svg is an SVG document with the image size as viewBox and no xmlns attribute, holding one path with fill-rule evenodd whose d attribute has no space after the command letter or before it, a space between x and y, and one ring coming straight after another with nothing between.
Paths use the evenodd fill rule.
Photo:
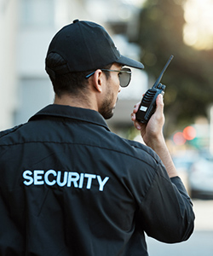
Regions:
<instances>
[{"instance_id":1,"label":"blurred pale building behind the man's capped head","mask_svg":"<svg viewBox=\"0 0 213 256\"><path fill-rule=\"evenodd\" d=\"M0 0L0 130L25 123L54 101L44 60L51 38L62 26L75 19L98 22L123 55L138 59L139 47L128 42L137 32L138 13L135 4L122 0ZM146 89L146 73L133 70L109 125L130 125L133 106Z\"/></svg>"}]
</instances>

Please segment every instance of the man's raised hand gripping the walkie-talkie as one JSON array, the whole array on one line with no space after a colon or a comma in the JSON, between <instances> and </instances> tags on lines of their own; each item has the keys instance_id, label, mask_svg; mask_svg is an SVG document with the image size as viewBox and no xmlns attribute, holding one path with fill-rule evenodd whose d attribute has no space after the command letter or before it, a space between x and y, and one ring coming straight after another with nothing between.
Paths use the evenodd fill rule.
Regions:
<instances>
[{"instance_id":1,"label":"man's raised hand gripping the walkie-talkie","mask_svg":"<svg viewBox=\"0 0 213 256\"><path fill-rule=\"evenodd\" d=\"M156 104L157 107L155 113L153 113L147 124L142 124L135 118L135 113L137 112L140 103L135 105L133 113L131 113L131 119L134 122L135 128L141 131L141 137L143 138L144 142L151 147L156 140L163 138L164 102L161 94L158 95Z\"/></svg>"}]
</instances>

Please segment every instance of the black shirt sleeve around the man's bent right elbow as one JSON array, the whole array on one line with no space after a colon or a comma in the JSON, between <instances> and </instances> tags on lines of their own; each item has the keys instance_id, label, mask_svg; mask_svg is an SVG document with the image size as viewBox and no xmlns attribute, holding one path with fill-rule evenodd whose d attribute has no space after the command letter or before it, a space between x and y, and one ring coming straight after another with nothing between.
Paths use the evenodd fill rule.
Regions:
<instances>
[{"instance_id":1,"label":"black shirt sleeve around the man's bent right elbow","mask_svg":"<svg viewBox=\"0 0 213 256\"><path fill-rule=\"evenodd\" d=\"M186 241L193 233L193 203L180 177L170 178L164 166L158 172L137 214L142 230L158 241Z\"/></svg>"}]
</instances>

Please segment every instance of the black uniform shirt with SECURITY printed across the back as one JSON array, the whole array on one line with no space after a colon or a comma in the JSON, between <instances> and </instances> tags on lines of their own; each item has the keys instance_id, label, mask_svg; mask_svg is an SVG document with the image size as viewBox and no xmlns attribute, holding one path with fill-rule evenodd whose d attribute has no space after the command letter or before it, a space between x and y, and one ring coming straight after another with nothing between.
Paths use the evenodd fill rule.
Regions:
<instances>
[{"instance_id":1,"label":"black uniform shirt with SECURITY printed across the back","mask_svg":"<svg viewBox=\"0 0 213 256\"><path fill-rule=\"evenodd\" d=\"M158 155L100 113L49 105L0 133L0 255L147 255L187 240L193 207Z\"/></svg>"}]
</instances>

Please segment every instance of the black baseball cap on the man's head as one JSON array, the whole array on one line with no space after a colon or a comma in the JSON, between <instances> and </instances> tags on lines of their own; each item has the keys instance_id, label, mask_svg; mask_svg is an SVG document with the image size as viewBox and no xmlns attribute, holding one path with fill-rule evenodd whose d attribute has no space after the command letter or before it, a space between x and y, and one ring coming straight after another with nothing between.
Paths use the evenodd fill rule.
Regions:
<instances>
[{"instance_id":1,"label":"black baseball cap on the man's head","mask_svg":"<svg viewBox=\"0 0 213 256\"><path fill-rule=\"evenodd\" d=\"M49 44L47 56L50 53L56 53L66 61L60 74L95 70L114 62L144 68L141 62L120 55L105 28L91 21L74 20L62 27ZM46 61L46 71L51 73L47 66Z\"/></svg>"}]
</instances>

